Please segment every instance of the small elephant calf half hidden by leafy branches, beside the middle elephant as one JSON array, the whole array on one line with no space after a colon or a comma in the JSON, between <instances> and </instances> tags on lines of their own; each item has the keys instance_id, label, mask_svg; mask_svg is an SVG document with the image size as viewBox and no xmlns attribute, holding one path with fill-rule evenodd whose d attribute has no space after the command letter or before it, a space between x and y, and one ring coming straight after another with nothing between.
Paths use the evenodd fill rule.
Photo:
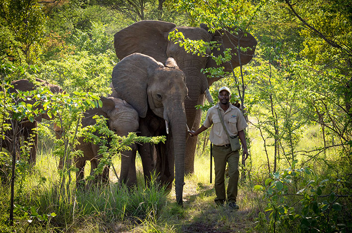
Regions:
<instances>
[{"instance_id":1,"label":"small elephant calf half hidden by leafy branches, beside the middle elephant","mask_svg":"<svg viewBox=\"0 0 352 233\"><path fill-rule=\"evenodd\" d=\"M82 119L82 126L94 125L96 120L93 118L94 115L100 115L108 118L109 128L120 136L127 136L129 132L136 132L138 129L138 113L129 105L127 102L109 97L101 98L103 102L102 108L95 108L87 111ZM76 146L76 149L83 151L82 157L74 158L78 172L76 173L76 183L79 185L80 181L84 178L84 166L86 161L91 162L91 174L99 164L101 156L98 153L100 145L92 142L84 141L84 137L78 139L80 142ZM126 183L127 185L135 184L137 181L135 175L135 155L136 145L129 145L131 150L121 152L121 171L120 171L120 182ZM60 161L59 167L62 167ZM133 172L134 171L134 172ZM102 176L98 176L103 181L107 182L109 177L109 169L105 168ZM98 179L99 179L98 178Z\"/></svg>"}]
</instances>

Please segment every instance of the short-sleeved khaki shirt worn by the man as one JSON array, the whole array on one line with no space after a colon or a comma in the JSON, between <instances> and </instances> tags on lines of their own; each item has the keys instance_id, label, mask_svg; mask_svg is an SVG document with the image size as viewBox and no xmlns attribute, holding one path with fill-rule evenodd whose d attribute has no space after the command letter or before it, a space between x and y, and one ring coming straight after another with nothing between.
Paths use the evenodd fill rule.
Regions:
<instances>
[{"instance_id":1,"label":"short-sleeved khaki shirt worn by the man","mask_svg":"<svg viewBox=\"0 0 352 233\"><path fill-rule=\"evenodd\" d=\"M220 107L220 103L209 109L207 117L203 122L203 126L209 128L213 123L212 130L210 131L209 139L214 145L225 145L230 144L228 135L224 131L224 126L221 123L218 109L220 114L223 116L225 127L227 128L230 136L235 136L238 131L245 129L248 125L242 115L241 111L235 106L230 104L230 108L224 112Z\"/></svg>"}]
</instances>

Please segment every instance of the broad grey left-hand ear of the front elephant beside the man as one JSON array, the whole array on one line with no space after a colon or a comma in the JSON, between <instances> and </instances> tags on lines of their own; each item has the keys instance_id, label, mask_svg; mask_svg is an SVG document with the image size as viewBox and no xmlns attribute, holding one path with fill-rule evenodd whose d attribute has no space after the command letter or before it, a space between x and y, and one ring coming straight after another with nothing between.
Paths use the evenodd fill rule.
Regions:
<instances>
[{"instance_id":1,"label":"broad grey left-hand ear of the front elephant beside the man","mask_svg":"<svg viewBox=\"0 0 352 233\"><path fill-rule=\"evenodd\" d=\"M140 53L133 53L123 58L113 70L112 82L117 98L125 100L138 113L145 117L148 110L148 78L152 78L162 63Z\"/></svg>"}]
</instances>

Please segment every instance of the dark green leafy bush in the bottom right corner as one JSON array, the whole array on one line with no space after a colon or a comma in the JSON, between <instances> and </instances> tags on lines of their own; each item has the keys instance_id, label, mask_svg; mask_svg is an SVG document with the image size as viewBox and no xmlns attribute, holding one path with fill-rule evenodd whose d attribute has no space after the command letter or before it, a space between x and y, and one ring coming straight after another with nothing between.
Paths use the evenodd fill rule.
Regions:
<instances>
[{"instance_id":1,"label":"dark green leafy bush in the bottom right corner","mask_svg":"<svg viewBox=\"0 0 352 233\"><path fill-rule=\"evenodd\" d=\"M264 211L270 212L273 232L276 225L292 228L297 222L300 223L300 228L296 228L296 231L343 231L346 227L340 218L343 206L337 201L350 195L351 190L341 189L339 185L346 181L323 179L322 176L315 175L311 168L296 168L296 164L297 160L290 168L271 173L270 178L264 182L265 186L254 186L254 190L263 191L263 198L268 200ZM336 194L346 192L347 196ZM290 195L297 199L292 200ZM297 203L301 206L297 207Z\"/></svg>"}]
</instances>

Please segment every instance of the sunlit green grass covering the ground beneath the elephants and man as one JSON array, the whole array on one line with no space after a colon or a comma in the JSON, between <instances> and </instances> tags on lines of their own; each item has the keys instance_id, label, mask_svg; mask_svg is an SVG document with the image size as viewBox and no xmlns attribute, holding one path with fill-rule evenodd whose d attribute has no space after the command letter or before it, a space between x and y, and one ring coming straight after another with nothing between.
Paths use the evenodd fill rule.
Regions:
<instances>
[{"instance_id":1,"label":"sunlit green grass covering the ground beneath the elephants and man","mask_svg":"<svg viewBox=\"0 0 352 233\"><path fill-rule=\"evenodd\" d=\"M29 217L15 215L16 232L136 232L136 233L179 233L179 232L270 232L266 202L262 193L253 190L256 184L262 184L267 178L267 160L263 142L252 126L249 128L250 163L247 163L247 179L240 181L238 187L238 211L232 212L228 207L217 208L214 204L214 170L213 183L210 184L209 145L204 154L197 150L194 174L185 177L184 207L175 203L175 191L166 193L153 183L145 187L142 166L139 156L136 158L138 186L128 189L117 184L117 178L111 171L111 182L105 186L92 186L86 190L75 190L75 174L72 173L71 184L63 192L58 187L57 158L49 149L39 149L35 168L25 174L23 187L16 183L15 203L21 206L34 207L38 214L55 212L57 216L49 221L39 221ZM270 140L269 140L270 141ZM309 141L309 143L307 143ZM201 146L202 143L200 142ZM306 128L296 150L312 150L322 146L319 127ZM46 153L47 152L47 153ZM269 159L273 160L273 148L268 148ZM308 164L317 173L330 178L332 170L324 159L333 159L334 150L320 154ZM307 160L307 153L297 154L299 160ZM248 160L249 162L249 160ZM113 158L119 174L120 159ZM270 164L272 166L272 164ZM278 164L287 168L284 158ZM85 175L89 174L89 165ZM250 181L249 178L250 177ZM19 190L22 191L21 195ZM5 224L9 208L8 184L0 186L0 232L10 232ZM351 209L351 208L350 208ZM348 213L351 213L348 209ZM285 232L292 229L278 229Z\"/></svg>"}]
</instances>

